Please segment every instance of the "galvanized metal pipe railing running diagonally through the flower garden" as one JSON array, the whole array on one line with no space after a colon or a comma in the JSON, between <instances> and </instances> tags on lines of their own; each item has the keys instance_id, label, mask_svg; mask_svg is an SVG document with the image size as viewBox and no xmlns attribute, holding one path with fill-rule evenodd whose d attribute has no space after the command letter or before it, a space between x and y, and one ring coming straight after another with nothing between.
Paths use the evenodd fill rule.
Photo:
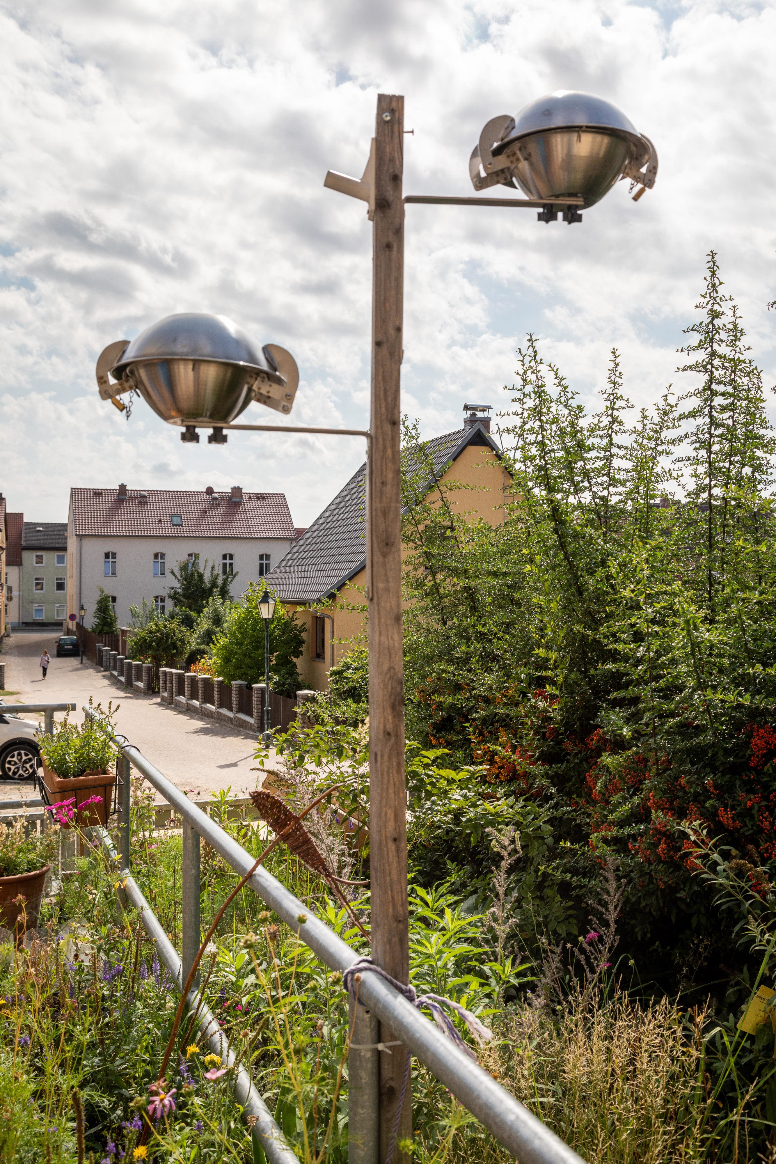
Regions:
<instances>
[{"instance_id":1,"label":"galvanized metal pipe railing running diagonally through the flower garden","mask_svg":"<svg viewBox=\"0 0 776 1164\"><path fill-rule=\"evenodd\" d=\"M57 704L64 710L67 704ZM29 707L26 710L45 710ZM51 708L54 711L54 708ZM90 710L84 708L90 715ZM183 987L201 939L200 928L200 837L232 866L240 876L252 868L255 857L247 852L215 821L192 803L126 737L114 736L119 748L119 854L105 829L97 830L108 854L119 860L119 893L127 895L138 909L147 932L156 939L159 959ZM162 925L145 901L130 872L130 773L140 772L183 821L181 929L183 957L179 957ZM247 886L269 906L306 943L330 970L344 972L358 956L343 939L311 913L298 897L263 866L250 876ZM306 922L299 923L304 914ZM378 1055L379 1023L384 1023L405 1048L468 1108L479 1122L515 1156L521 1164L583 1164L579 1157L555 1133L498 1084L492 1076L460 1050L440 1029L422 1015L396 987L377 974L364 972L358 988L359 1003L350 999L351 1043L348 1058L348 1144L350 1164L378 1164ZM188 1005L198 1014L198 1027L212 1046L229 1064L235 1062L226 1036L218 1028L212 1012L195 988ZM198 1009L199 1008L199 1009ZM213 1029L215 1028L215 1029ZM236 1072L235 1095L248 1115L255 1115L252 1135L266 1154L270 1164L291 1164L297 1159L269 1108L256 1091L244 1067Z\"/></svg>"}]
</instances>

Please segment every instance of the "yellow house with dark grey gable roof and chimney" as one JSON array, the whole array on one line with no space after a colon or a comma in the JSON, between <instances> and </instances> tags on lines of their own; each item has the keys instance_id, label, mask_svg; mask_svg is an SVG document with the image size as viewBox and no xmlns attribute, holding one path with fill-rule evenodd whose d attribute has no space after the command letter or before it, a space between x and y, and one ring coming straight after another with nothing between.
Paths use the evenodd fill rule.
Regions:
<instances>
[{"instance_id":1,"label":"yellow house with dark grey gable roof and chimney","mask_svg":"<svg viewBox=\"0 0 776 1164\"><path fill-rule=\"evenodd\" d=\"M512 499L512 478L491 436L490 419L482 416L486 407L464 405L463 427L428 441L427 453L435 477L456 484L448 495L451 509L500 525ZM326 690L329 668L351 646L366 643L365 474L362 464L266 579L306 629L297 667L312 690ZM434 481L428 485L434 488Z\"/></svg>"}]
</instances>

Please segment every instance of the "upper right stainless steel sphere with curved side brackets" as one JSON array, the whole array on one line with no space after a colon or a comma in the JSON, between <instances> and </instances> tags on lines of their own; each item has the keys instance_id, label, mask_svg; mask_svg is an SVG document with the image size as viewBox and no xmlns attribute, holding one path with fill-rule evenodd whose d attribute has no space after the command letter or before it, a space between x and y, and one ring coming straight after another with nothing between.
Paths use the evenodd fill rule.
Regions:
<instances>
[{"instance_id":1,"label":"upper right stainless steel sphere with curved side brackets","mask_svg":"<svg viewBox=\"0 0 776 1164\"><path fill-rule=\"evenodd\" d=\"M611 101L558 90L532 101L517 118L489 121L470 172L477 190L515 185L529 198L576 196L592 206L621 177L646 189L654 185L657 156Z\"/></svg>"}]
</instances>

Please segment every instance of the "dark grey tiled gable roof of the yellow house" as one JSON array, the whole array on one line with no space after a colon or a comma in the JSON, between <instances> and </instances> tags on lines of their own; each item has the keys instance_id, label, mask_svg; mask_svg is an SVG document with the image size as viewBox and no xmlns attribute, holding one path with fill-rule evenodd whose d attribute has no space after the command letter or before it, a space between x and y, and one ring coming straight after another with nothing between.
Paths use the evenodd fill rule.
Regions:
<instances>
[{"instance_id":1,"label":"dark grey tiled gable roof of the yellow house","mask_svg":"<svg viewBox=\"0 0 776 1164\"><path fill-rule=\"evenodd\" d=\"M477 423L426 443L434 471L441 474L469 445L485 445L500 454L496 441ZM366 466L362 464L268 575L282 602L321 602L364 568L365 474Z\"/></svg>"}]
</instances>

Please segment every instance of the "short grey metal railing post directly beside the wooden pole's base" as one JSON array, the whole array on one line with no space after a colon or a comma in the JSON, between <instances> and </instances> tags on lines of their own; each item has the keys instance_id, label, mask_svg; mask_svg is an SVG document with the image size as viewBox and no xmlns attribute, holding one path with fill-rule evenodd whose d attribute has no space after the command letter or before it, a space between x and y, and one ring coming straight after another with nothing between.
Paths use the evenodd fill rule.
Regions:
<instances>
[{"instance_id":1,"label":"short grey metal railing post directly beside the wooden pole's base","mask_svg":"<svg viewBox=\"0 0 776 1164\"><path fill-rule=\"evenodd\" d=\"M378 1164L380 1152L379 1022L350 995L348 1164ZM355 1045L354 1045L355 1044Z\"/></svg>"}]
</instances>

